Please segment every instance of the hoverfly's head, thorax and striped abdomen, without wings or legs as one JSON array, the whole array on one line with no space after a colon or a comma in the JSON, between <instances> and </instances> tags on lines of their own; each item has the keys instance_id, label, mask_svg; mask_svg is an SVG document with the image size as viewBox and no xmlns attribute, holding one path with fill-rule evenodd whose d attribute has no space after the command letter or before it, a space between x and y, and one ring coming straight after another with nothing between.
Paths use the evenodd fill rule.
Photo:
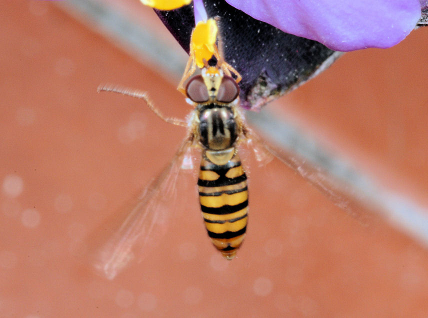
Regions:
<instances>
[{"instance_id":1,"label":"hoverfly's head, thorax and striped abdomen, without wings or legs","mask_svg":"<svg viewBox=\"0 0 428 318\"><path fill-rule=\"evenodd\" d=\"M202 146L199 201L208 236L227 259L240 246L247 224L246 175L236 150L242 124L234 109L238 86L218 68L203 69L187 84L187 96L197 102Z\"/></svg>"}]
</instances>

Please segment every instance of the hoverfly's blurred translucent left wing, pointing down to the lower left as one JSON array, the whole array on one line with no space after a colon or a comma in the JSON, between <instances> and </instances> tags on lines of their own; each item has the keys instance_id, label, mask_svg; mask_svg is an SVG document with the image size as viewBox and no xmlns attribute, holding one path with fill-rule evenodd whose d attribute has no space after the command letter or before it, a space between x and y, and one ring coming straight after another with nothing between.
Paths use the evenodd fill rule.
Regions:
<instances>
[{"instance_id":1,"label":"hoverfly's blurred translucent left wing, pointing down to the lower left","mask_svg":"<svg viewBox=\"0 0 428 318\"><path fill-rule=\"evenodd\" d=\"M171 163L138 196L137 203L120 227L96 250L93 265L108 279L113 279L135 258L135 252L141 258L147 247L151 248L165 234L171 213L168 205L173 201L177 176L190 146L190 139L186 139Z\"/></svg>"}]
</instances>

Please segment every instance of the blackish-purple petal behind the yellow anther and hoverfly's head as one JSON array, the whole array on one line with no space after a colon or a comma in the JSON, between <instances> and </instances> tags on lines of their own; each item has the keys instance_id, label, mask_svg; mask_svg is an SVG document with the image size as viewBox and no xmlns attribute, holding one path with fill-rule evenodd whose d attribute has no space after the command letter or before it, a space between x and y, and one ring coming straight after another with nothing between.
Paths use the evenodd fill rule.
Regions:
<instances>
[{"instance_id":1,"label":"blackish-purple petal behind the yellow anther and hoverfly's head","mask_svg":"<svg viewBox=\"0 0 428 318\"><path fill-rule=\"evenodd\" d=\"M224 0L203 0L208 17L219 20L223 57L242 76L242 107L258 110L268 101L298 87L331 64L338 53L319 42L284 33L256 20ZM193 5L155 10L188 52L194 27Z\"/></svg>"}]
</instances>

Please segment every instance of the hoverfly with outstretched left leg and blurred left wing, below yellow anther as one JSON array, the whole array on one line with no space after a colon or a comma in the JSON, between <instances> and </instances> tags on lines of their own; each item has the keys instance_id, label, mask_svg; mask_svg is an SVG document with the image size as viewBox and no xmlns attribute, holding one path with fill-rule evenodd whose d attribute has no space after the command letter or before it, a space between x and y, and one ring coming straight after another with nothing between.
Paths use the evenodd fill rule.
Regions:
<instances>
[{"instance_id":1,"label":"hoverfly with outstretched left leg and blurred left wing, below yellow anther","mask_svg":"<svg viewBox=\"0 0 428 318\"><path fill-rule=\"evenodd\" d=\"M163 213L167 211L156 210L157 201L163 199L165 191L168 191L166 188L174 187L182 162L192 148L201 149L197 186L209 238L226 259L232 259L245 237L248 188L237 145L247 142L253 147L254 141L260 141L246 126L239 110L238 72L224 61L215 47L211 59L204 60L201 73L193 75L183 88L185 79L195 71L192 59L194 56L190 54L178 85L178 90L193 106L188 122L163 116L146 92L113 86L98 87L98 91L118 92L143 99L162 120L188 129L170 165L147 186L121 227L99 250L95 267L108 278L113 278L133 256L133 245L138 240L149 240L151 228L156 222L162 222ZM254 151L258 156L264 154L263 149L255 148ZM263 159L270 156L268 151L265 152L267 156L264 155ZM259 157L257 159L260 160Z\"/></svg>"}]
</instances>

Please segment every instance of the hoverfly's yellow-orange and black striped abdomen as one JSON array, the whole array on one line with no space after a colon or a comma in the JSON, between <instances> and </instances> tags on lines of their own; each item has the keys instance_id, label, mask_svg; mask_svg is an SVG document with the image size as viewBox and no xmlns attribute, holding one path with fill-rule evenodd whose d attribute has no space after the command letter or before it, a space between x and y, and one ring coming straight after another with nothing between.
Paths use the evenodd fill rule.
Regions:
<instances>
[{"instance_id":1,"label":"hoverfly's yellow-orange and black striped abdomen","mask_svg":"<svg viewBox=\"0 0 428 318\"><path fill-rule=\"evenodd\" d=\"M200 163L199 201L208 235L227 259L236 254L248 220L248 189L239 156L224 165Z\"/></svg>"}]
</instances>

